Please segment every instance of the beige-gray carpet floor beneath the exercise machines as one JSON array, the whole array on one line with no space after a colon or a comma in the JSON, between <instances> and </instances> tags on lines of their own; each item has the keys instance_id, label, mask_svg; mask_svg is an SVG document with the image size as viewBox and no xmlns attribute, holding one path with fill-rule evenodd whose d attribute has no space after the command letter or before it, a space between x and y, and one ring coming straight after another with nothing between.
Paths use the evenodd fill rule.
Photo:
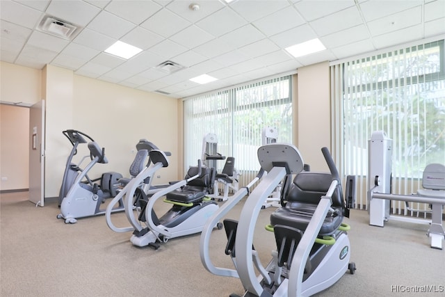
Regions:
<instances>
[{"instance_id":1,"label":"beige-gray carpet floor beneath the exercise machines","mask_svg":"<svg viewBox=\"0 0 445 297\"><path fill-rule=\"evenodd\" d=\"M200 234L171 239L159 250L137 248L129 233L115 233L104 216L65 225L56 218L57 202L35 207L27 192L0 195L0 296L229 296L243 294L237 278L209 273L201 264ZM238 219L242 200L227 214ZM156 202L157 203L157 202ZM224 203L224 202L220 202ZM163 214L163 202L155 210ZM264 230L273 207L261 210L254 246L266 265L275 248ZM129 225L123 213L115 225ZM352 210L351 261L346 273L316 296L445 296L445 250L430 248L428 226L388 222L368 224L366 211ZM232 268L224 254L223 230L214 230L211 257Z\"/></svg>"}]
</instances>

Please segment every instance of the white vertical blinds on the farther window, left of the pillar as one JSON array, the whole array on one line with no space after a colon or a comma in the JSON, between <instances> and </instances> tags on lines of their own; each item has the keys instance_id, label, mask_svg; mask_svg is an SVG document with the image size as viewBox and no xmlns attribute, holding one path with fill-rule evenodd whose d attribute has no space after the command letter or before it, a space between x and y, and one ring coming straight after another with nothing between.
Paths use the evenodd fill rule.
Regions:
<instances>
[{"instance_id":1,"label":"white vertical blinds on the farther window, left of the pillar","mask_svg":"<svg viewBox=\"0 0 445 297\"><path fill-rule=\"evenodd\" d=\"M217 152L234 156L239 186L259 171L257 149L264 127L275 127L279 142L292 142L291 76L246 83L184 99L184 168L202 156L203 138L215 134ZM217 161L220 172L225 160Z\"/></svg>"}]
</instances>

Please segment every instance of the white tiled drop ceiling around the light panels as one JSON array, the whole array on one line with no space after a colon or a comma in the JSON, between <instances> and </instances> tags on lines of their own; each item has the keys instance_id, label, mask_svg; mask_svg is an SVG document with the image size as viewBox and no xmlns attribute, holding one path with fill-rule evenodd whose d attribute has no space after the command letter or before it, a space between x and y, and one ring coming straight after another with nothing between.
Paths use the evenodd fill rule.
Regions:
<instances>
[{"instance_id":1,"label":"white tiled drop ceiling around the light panels","mask_svg":"<svg viewBox=\"0 0 445 297\"><path fill-rule=\"evenodd\" d=\"M77 29L43 32L51 16ZM0 59L181 98L445 34L445 0L1 0ZM286 47L318 38L326 47L294 58ZM104 50L139 47L125 60ZM184 66L168 74L156 66ZM217 80L189 81L201 74Z\"/></svg>"}]
</instances>

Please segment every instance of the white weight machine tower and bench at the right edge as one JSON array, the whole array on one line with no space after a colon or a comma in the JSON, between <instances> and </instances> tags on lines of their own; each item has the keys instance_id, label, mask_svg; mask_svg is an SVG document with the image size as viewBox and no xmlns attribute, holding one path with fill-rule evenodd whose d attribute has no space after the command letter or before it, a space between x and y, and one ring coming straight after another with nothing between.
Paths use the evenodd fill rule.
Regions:
<instances>
[{"instance_id":1,"label":"white weight machine tower and bench at the right edge","mask_svg":"<svg viewBox=\"0 0 445 297\"><path fill-rule=\"evenodd\" d=\"M442 250L445 239L442 226L442 207L445 204L445 186L442 190L420 189L415 195L391 194L391 153L392 140L384 131L374 131L368 145L369 225L384 227L388 220L430 225L427 236L431 248ZM443 178L442 178L443 179ZM444 182L443 182L444 183ZM445 183L444 183L445 184ZM390 214L390 200L420 202L431 205L431 220Z\"/></svg>"}]
</instances>

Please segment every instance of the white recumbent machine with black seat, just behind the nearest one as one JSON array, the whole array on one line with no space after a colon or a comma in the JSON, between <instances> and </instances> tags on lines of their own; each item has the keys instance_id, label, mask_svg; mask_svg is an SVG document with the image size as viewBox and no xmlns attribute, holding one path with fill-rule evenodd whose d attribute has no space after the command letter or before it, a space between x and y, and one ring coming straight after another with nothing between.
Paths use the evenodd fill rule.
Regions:
<instances>
[{"instance_id":1,"label":"white recumbent machine with black seat, just behind the nearest one","mask_svg":"<svg viewBox=\"0 0 445 297\"><path fill-rule=\"evenodd\" d=\"M159 243L201 232L207 218L218 209L218 204L205 199L213 186L214 173L211 168L202 166L200 160L198 166L189 168L186 177L179 182L173 182L165 188L138 190L144 181L152 180L156 170L168 166L167 156L160 150L149 152L149 158L151 164L131 179L108 204L106 223L115 232L133 232L130 238L133 245L152 246L157 250ZM159 217L153 207L164 196L164 202L173 205ZM113 206L120 199L124 200L125 214L131 224L129 227L116 227L111 220ZM220 229L222 225L216 224L216 227Z\"/></svg>"}]
</instances>

